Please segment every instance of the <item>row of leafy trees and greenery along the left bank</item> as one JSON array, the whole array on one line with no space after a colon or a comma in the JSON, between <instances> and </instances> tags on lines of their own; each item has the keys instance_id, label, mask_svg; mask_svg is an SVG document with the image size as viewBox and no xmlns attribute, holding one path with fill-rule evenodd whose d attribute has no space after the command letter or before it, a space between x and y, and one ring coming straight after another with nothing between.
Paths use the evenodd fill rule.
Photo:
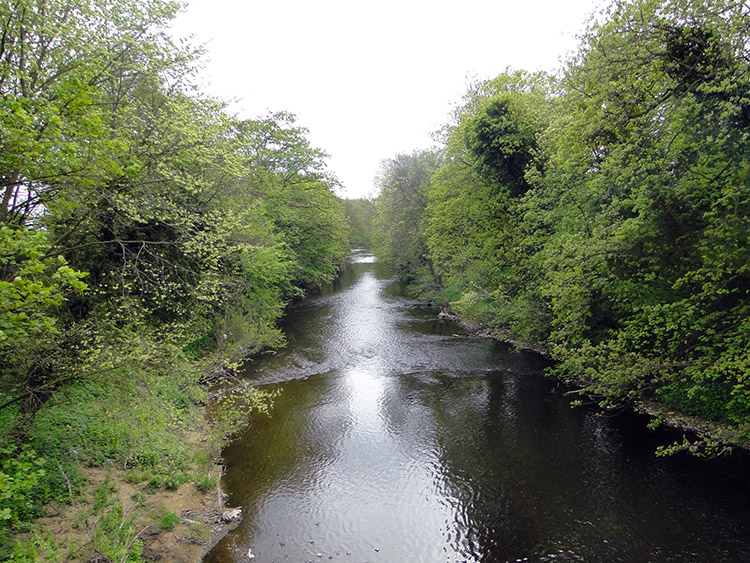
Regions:
<instances>
[{"instance_id":1,"label":"row of leafy trees and greenery along the left bank","mask_svg":"<svg viewBox=\"0 0 750 563\"><path fill-rule=\"evenodd\" d=\"M6 539L75 493L75 464L187 478L173 430L201 423L207 367L279 345L284 304L349 245L294 116L239 120L195 89L200 52L165 32L179 6L0 3Z\"/></svg>"}]
</instances>

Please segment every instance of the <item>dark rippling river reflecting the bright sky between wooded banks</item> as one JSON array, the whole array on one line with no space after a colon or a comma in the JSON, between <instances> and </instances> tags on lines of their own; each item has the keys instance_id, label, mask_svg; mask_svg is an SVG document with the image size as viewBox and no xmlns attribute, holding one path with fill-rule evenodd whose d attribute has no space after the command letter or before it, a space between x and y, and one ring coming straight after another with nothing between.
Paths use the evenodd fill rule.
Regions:
<instances>
[{"instance_id":1,"label":"dark rippling river reflecting the bright sky between wooded banks","mask_svg":"<svg viewBox=\"0 0 750 563\"><path fill-rule=\"evenodd\" d=\"M359 260L246 370L283 392L225 451L245 519L206 561L750 561L747 456L656 458L681 436L571 408Z\"/></svg>"}]
</instances>

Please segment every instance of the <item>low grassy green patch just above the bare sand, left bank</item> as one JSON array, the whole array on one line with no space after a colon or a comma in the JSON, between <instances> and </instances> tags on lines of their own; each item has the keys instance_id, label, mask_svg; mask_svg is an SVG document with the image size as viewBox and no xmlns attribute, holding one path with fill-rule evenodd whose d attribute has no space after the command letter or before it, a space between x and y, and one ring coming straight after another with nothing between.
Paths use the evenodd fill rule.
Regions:
<instances>
[{"instance_id":1,"label":"low grassy green patch just above the bare sand, left bank","mask_svg":"<svg viewBox=\"0 0 750 563\"><path fill-rule=\"evenodd\" d=\"M178 432L201 422L186 388L191 371L174 360L170 366L168 357L162 360L162 369L171 368L169 377L134 372L131 359L107 371L104 381L91 374L86 384L58 391L37 413L31 439L53 459L89 465L115 462L156 474L187 467L190 456Z\"/></svg>"}]
</instances>

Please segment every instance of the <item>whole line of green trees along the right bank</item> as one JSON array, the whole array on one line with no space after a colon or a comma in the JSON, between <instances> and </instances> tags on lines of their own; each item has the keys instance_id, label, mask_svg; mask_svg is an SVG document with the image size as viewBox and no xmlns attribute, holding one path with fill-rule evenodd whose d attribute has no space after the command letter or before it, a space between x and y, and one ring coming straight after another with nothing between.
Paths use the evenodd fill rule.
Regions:
<instances>
[{"instance_id":1,"label":"whole line of green trees along the right bank","mask_svg":"<svg viewBox=\"0 0 750 563\"><path fill-rule=\"evenodd\" d=\"M439 149L384 163L377 252L603 405L748 441L748 37L743 2L614 2L559 77L474 84Z\"/></svg>"}]
</instances>

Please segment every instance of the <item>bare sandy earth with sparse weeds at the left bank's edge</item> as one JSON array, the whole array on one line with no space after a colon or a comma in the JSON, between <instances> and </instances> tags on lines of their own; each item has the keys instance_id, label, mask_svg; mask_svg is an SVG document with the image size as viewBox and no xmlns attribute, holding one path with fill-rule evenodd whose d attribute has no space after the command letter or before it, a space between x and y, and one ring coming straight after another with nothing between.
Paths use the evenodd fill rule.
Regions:
<instances>
[{"instance_id":1,"label":"bare sandy earth with sparse weeds at the left bank's edge","mask_svg":"<svg viewBox=\"0 0 750 563\"><path fill-rule=\"evenodd\" d=\"M16 538L13 560L202 560L237 526L241 511L230 509L221 489L221 442L215 434L204 427L179 437L209 459L207 471L188 468L203 471L202 480L156 487L134 482L132 472L114 465L82 467L83 492L67 503L50 503L46 515Z\"/></svg>"}]
</instances>

